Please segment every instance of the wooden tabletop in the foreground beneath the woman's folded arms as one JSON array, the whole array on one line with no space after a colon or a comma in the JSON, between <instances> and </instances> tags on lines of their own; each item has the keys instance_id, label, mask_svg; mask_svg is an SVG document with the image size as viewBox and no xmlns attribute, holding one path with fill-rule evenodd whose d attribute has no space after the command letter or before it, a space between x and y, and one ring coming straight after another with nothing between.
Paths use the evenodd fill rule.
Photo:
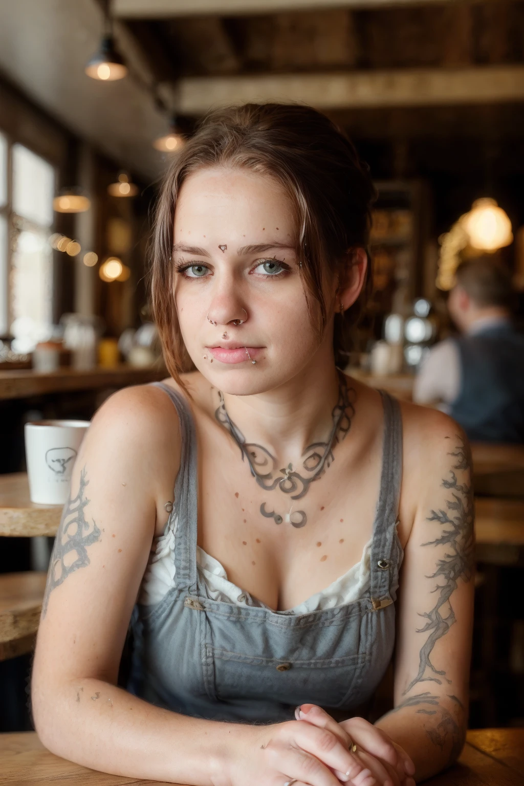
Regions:
<instances>
[{"instance_id":1,"label":"wooden tabletop in the foreground beneath the woman's folded arms","mask_svg":"<svg viewBox=\"0 0 524 786\"><path fill-rule=\"evenodd\" d=\"M426 780L427 786L518 786L524 779L524 729L482 729L467 733L460 761ZM0 784L116 786L158 781L98 773L46 751L34 732L0 734ZM248 786L248 784L247 784Z\"/></svg>"}]
</instances>

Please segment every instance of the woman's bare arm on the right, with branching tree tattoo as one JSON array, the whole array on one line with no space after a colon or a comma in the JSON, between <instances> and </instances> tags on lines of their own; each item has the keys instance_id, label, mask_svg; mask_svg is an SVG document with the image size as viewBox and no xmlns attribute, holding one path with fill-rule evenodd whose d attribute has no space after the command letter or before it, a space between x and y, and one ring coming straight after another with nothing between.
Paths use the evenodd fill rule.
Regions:
<instances>
[{"instance_id":1,"label":"woman's bare arm on the right, with branching tree tattoo","mask_svg":"<svg viewBox=\"0 0 524 786\"><path fill-rule=\"evenodd\" d=\"M473 618L471 457L460 428L435 418L401 570L394 710L377 722L411 755L417 780L464 745Z\"/></svg>"}]
</instances>

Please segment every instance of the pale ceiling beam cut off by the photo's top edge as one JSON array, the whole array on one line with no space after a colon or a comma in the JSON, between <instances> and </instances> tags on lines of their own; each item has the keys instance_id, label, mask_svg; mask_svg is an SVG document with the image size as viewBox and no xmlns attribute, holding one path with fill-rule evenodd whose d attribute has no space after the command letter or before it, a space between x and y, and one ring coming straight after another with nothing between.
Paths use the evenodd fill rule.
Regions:
<instances>
[{"instance_id":1,"label":"pale ceiling beam cut off by the photo's top edge","mask_svg":"<svg viewBox=\"0 0 524 786\"><path fill-rule=\"evenodd\" d=\"M124 19L168 19L197 14L246 16L334 8L383 8L384 6L433 6L454 0L112 0L112 14ZM493 0L495 2L495 0Z\"/></svg>"}]
</instances>

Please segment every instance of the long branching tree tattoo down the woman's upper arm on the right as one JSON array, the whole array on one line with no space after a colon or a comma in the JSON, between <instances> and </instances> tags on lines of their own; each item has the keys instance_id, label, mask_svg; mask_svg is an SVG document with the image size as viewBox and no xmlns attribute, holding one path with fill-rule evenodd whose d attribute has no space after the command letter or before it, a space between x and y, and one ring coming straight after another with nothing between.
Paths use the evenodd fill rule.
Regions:
<instances>
[{"instance_id":1,"label":"long branching tree tattoo down the woman's upper arm on the right","mask_svg":"<svg viewBox=\"0 0 524 786\"><path fill-rule=\"evenodd\" d=\"M442 680L449 683L445 677L445 671L438 670L431 663L430 656L436 641L447 634L449 628L455 622L455 614L450 603L450 597L458 586L459 578L468 582L472 575L472 560L474 549L473 536L473 499L471 496L471 486L466 483L458 483L454 470L467 471L471 466L467 446L464 440L457 435L460 444L456 447L455 453L450 456L455 457L456 464L449 472L449 479L442 480L442 486L451 490L451 497L445 501L447 511L431 511L431 516L427 521L438 521L442 524L442 534L434 541L428 541L422 545L445 545L448 547L445 555L437 561L437 570L427 578L437 578L442 583L437 583L433 592L437 594L437 600L431 612L426 612L420 616L427 619L427 623L417 630L417 633L427 633L426 643L420 650L419 672L405 689L404 693L409 692L417 682L434 681L442 685ZM429 674L428 674L429 673ZM432 676L438 675L438 676ZM442 678L442 679L439 679Z\"/></svg>"}]
</instances>

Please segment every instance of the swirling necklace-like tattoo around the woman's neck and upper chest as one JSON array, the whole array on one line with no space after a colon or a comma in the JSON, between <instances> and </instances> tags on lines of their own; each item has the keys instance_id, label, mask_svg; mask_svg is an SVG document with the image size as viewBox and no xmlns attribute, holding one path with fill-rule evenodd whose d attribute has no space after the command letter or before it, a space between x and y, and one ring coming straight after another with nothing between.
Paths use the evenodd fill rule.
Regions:
<instances>
[{"instance_id":1,"label":"swirling necklace-like tattoo around the woman's neck and upper chest","mask_svg":"<svg viewBox=\"0 0 524 786\"><path fill-rule=\"evenodd\" d=\"M302 454L302 469L304 475L293 469L293 465L276 470L277 458L262 445L247 443L240 429L230 419L225 409L224 396L220 395L220 406L214 413L219 423L222 423L240 448L242 461L247 461L251 475L256 479L258 486L266 491L273 491L277 487L284 494L291 494L292 500L302 499L310 489L311 483L321 478L328 467L335 461L333 448L345 439L351 427L351 418L354 416L354 400L356 393L353 387L348 387L346 377L339 373L339 400L332 410L332 430L325 442L312 443L306 447ZM275 473L277 477L275 477ZM273 519L275 523L284 521L280 513L266 510L266 502L260 505L260 512L266 519ZM307 523L306 512L295 510L289 513L289 522L293 527L304 527Z\"/></svg>"}]
</instances>

